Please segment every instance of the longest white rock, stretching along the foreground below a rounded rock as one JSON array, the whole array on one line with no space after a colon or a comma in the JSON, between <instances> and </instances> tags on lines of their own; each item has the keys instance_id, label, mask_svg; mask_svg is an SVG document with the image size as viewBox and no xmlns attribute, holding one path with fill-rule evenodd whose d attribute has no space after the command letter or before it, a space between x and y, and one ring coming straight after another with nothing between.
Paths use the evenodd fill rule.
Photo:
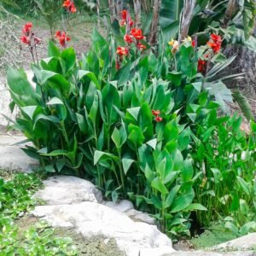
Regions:
<instances>
[{"instance_id":1,"label":"longest white rock, stretching along the foreground below a rounded rock","mask_svg":"<svg viewBox=\"0 0 256 256\"><path fill-rule=\"evenodd\" d=\"M114 238L127 256L137 256L145 248L172 249L172 241L156 226L134 222L125 213L95 202L40 206L32 214L53 226L73 227L83 236Z\"/></svg>"}]
</instances>

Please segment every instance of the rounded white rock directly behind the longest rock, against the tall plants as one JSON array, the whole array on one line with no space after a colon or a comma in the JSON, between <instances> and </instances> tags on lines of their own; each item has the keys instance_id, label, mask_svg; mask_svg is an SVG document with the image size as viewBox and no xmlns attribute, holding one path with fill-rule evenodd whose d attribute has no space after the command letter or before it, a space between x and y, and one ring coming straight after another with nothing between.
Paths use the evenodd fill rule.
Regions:
<instances>
[{"instance_id":1,"label":"rounded white rock directly behind the longest rock, against the tall plants","mask_svg":"<svg viewBox=\"0 0 256 256\"><path fill-rule=\"evenodd\" d=\"M102 201L102 192L94 184L73 176L49 177L44 181L44 189L38 190L35 196L48 205Z\"/></svg>"}]
</instances>

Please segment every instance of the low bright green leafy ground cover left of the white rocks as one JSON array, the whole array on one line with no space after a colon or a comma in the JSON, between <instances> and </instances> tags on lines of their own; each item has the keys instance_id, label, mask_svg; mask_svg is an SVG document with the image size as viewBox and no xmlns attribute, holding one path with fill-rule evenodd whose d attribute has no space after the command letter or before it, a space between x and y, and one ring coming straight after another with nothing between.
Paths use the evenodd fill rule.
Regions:
<instances>
[{"instance_id":1,"label":"low bright green leafy ground cover left of the white rocks","mask_svg":"<svg viewBox=\"0 0 256 256\"><path fill-rule=\"evenodd\" d=\"M0 178L0 255L77 255L69 238L55 237L54 229L45 222L20 235L15 218L35 206L32 194L42 187L41 180L32 174L18 173L9 180ZM24 237L23 237L24 236Z\"/></svg>"}]
</instances>

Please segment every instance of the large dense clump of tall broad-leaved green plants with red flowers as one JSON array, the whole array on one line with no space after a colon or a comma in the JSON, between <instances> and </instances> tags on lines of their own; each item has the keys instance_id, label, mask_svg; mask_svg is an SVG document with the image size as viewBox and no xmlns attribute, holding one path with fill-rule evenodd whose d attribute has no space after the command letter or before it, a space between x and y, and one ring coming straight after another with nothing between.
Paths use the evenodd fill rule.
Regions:
<instances>
[{"instance_id":1,"label":"large dense clump of tall broad-leaved green plants with red flowers","mask_svg":"<svg viewBox=\"0 0 256 256\"><path fill-rule=\"evenodd\" d=\"M242 201L253 212L255 129L247 137L239 119L217 115L231 98L219 75L234 59L220 54L223 38L212 34L201 48L192 38L161 41L154 55L129 14L120 26L116 38L94 31L81 60L50 42L49 58L32 65L35 90L9 69L15 127L34 145L24 151L47 172L90 178L113 201L130 198L170 236L189 235L191 218L204 227L230 208L236 218Z\"/></svg>"}]
</instances>

